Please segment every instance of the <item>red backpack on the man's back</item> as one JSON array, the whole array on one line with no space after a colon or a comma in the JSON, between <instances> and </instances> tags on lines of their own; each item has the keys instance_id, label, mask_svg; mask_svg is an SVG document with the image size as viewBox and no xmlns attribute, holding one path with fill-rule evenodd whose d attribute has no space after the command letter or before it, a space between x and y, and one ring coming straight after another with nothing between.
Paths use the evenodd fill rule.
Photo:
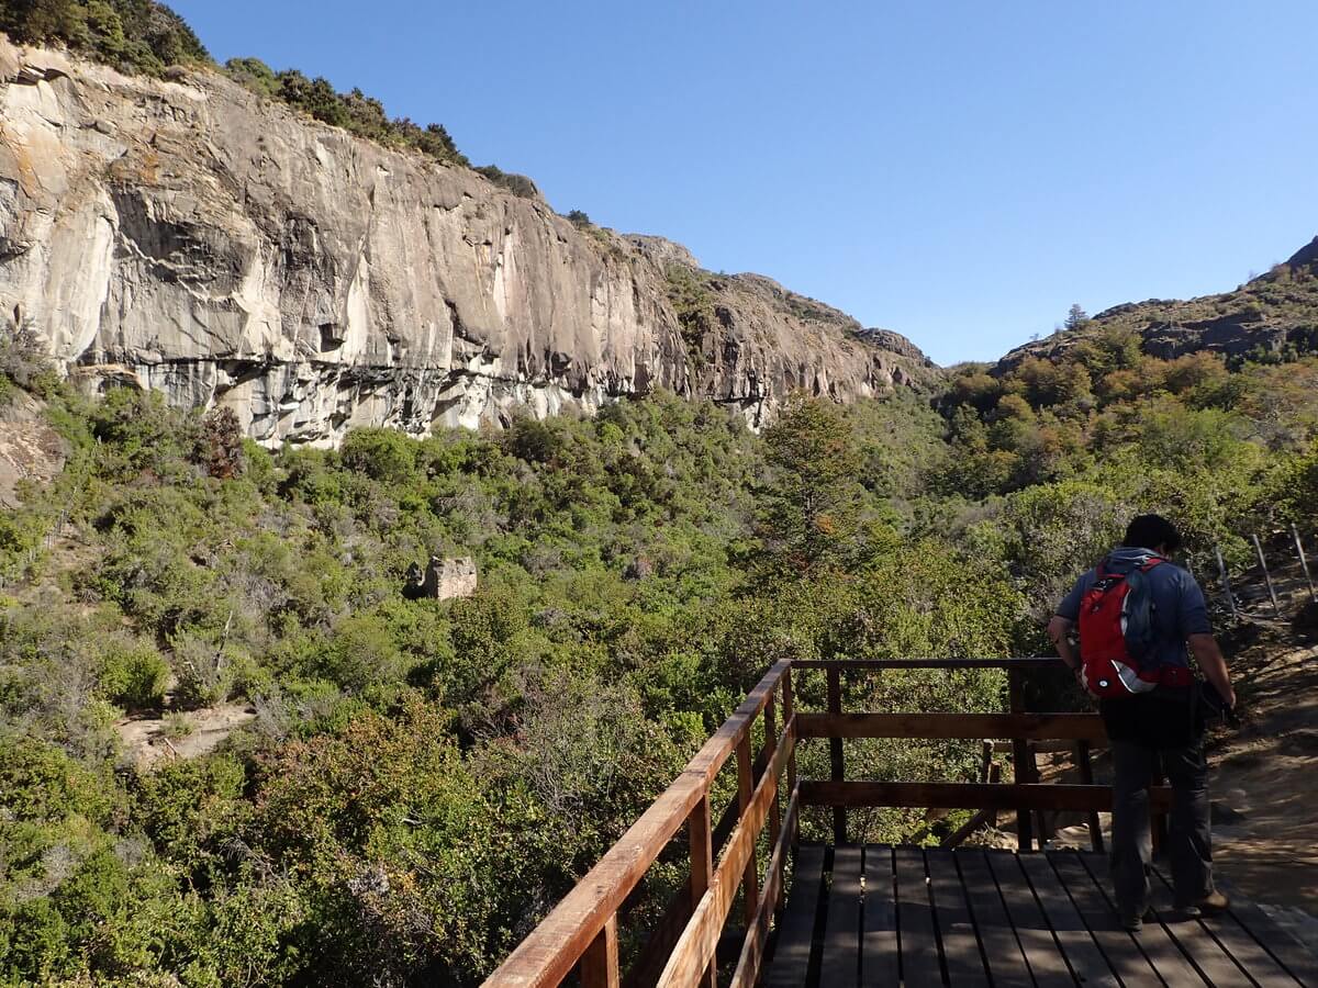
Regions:
<instances>
[{"instance_id":1,"label":"red backpack on the man's back","mask_svg":"<svg viewBox=\"0 0 1318 988\"><path fill-rule=\"evenodd\" d=\"M1166 563L1160 556L1130 572L1098 568L1098 580L1079 602L1079 659L1085 685L1101 700L1148 693L1156 686L1188 686L1189 668L1156 660L1153 598L1145 574Z\"/></svg>"}]
</instances>

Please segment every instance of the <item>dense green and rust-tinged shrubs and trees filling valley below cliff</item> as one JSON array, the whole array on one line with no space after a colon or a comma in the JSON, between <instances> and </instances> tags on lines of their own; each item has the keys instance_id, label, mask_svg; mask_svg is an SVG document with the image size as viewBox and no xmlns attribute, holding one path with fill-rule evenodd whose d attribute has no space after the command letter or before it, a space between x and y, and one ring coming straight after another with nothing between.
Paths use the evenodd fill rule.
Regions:
<instances>
[{"instance_id":1,"label":"dense green and rust-tinged shrubs and trees filling valley below cliff","mask_svg":"<svg viewBox=\"0 0 1318 988\"><path fill-rule=\"evenodd\" d=\"M0 511L13 984L474 984L775 657L1037 652L1136 508L1198 564L1318 503L1318 362L1120 333L965 369L941 414L799 400L757 436L656 395L277 453L224 414L82 398L24 344L5 428L50 423L66 462ZM473 597L407 599L413 564L460 555ZM866 702L1002 702L991 674L883 689ZM217 751L125 751L125 715L182 747L225 701L254 719ZM867 759L974 771L953 744Z\"/></svg>"}]
</instances>

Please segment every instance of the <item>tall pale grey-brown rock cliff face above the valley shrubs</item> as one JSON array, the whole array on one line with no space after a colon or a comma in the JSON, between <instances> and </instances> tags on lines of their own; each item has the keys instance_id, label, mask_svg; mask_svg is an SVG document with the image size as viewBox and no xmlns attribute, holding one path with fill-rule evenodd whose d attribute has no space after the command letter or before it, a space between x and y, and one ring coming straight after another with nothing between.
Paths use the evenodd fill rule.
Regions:
<instances>
[{"instance_id":1,"label":"tall pale grey-brown rock cliff face above the valley shrubs","mask_svg":"<svg viewBox=\"0 0 1318 988\"><path fill-rule=\"evenodd\" d=\"M684 248L577 229L219 74L125 78L0 36L0 314L88 387L333 444L655 387L758 424L795 389L850 400L934 374L895 333L753 275L717 279L717 320L684 332Z\"/></svg>"}]
</instances>

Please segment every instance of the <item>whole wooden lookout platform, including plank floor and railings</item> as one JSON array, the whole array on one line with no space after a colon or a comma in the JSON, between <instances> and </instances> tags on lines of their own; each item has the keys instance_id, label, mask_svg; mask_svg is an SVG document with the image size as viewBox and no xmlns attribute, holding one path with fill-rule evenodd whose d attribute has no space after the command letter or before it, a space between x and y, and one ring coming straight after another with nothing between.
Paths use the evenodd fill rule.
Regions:
<instances>
[{"instance_id":1,"label":"whole wooden lookout platform, including plank floor and railings","mask_svg":"<svg viewBox=\"0 0 1318 988\"><path fill-rule=\"evenodd\" d=\"M1238 897L1226 916L1181 919L1161 871L1153 877L1156 921L1139 935L1120 929L1099 854L1098 813L1111 808L1111 789L1093 782L1089 756L1106 734L1097 714L1025 713L1024 680L1048 667L1056 669L1056 660L776 664L486 987L1318 988L1318 960L1257 906ZM844 676L887 669L1004 669L1011 713L842 711ZM826 681L817 713L796 709L793 673L808 671ZM847 780L842 742L861 738L1007 739L1014 781L994 781L987 760L974 782ZM829 779L799 779L797 748L815 739L828 740ZM1036 750L1058 743L1072 750L1078 782L1039 781ZM716 818L716 779L734 757L737 793ZM1156 837L1169 805L1169 790L1155 785ZM875 806L979 813L937 850L849 843L847 810ZM808 808L832 809L830 844L800 840ZM999 811L1015 814L1019 852L949 850ZM1033 851L1057 811L1086 814L1091 850ZM619 917L683 833L689 879L623 964Z\"/></svg>"}]
</instances>

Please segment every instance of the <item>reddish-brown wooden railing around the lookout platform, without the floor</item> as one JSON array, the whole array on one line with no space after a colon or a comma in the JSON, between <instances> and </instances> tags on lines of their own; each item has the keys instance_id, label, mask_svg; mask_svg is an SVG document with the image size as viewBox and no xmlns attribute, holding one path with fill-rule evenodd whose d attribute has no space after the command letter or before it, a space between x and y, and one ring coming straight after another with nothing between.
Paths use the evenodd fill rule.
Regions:
<instances>
[{"instance_id":1,"label":"reddish-brown wooden railing around the lookout platform, without the floor","mask_svg":"<svg viewBox=\"0 0 1318 988\"><path fill-rule=\"evenodd\" d=\"M1023 677L1057 668L1056 659L886 661L784 660L774 665L733 715L704 744L650 809L627 830L576 888L522 941L485 983L486 988L547 988L573 971L585 988L700 985L714 988L717 950L738 888L743 892L745 934L730 984L758 981L772 917L783 901L787 858L796 843L800 810L833 809L834 843L846 842L851 808L924 806L1015 810L1021 850L1033 847L1033 819L1043 811L1090 814L1098 847L1099 810L1111 809L1110 786L1094 785L1089 747L1106 742L1097 714L1025 713ZM826 710L795 709L793 671L824 671ZM884 669L1004 669L1011 713L844 713L842 676ZM782 711L782 731L779 726ZM753 728L763 719L763 746L751 751ZM829 742L828 780L797 780L796 746L812 738ZM1012 742L1012 782L875 782L845 779L846 738L991 739ZM1041 784L1032 742L1064 740L1075 746L1079 784ZM713 823L710 789L720 769L735 755L737 800ZM786 809L779 788L786 780ZM1170 805L1165 786L1151 790L1151 806L1164 814ZM618 916L650 867L685 826L691 871L687 888L670 902L663 918L623 977L618 950ZM768 862L759 868L757 843L767 831ZM729 962L730 966L730 962Z\"/></svg>"}]
</instances>

